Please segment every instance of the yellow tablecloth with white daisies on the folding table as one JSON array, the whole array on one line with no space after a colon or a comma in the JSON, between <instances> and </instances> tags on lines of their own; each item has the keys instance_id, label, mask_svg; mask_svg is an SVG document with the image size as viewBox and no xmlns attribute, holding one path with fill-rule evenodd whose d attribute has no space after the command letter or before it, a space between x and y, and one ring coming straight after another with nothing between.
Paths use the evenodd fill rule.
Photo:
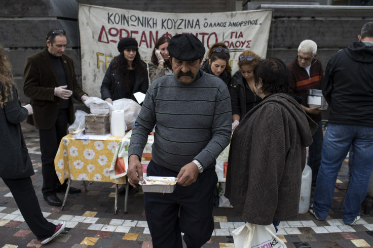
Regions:
<instances>
[{"instance_id":1,"label":"yellow tablecloth with white daisies on the folding table","mask_svg":"<svg viewBox=\"0 0 373 248\"><path fill-rule=\"evenodd\" d=\"M110 179L109 170L120 137L106 140L74 139L70 134L62 138L54 159L61 183L66 178L76 181L97 181L124 184L125 177Z\"/></svg>"}]
</instances>

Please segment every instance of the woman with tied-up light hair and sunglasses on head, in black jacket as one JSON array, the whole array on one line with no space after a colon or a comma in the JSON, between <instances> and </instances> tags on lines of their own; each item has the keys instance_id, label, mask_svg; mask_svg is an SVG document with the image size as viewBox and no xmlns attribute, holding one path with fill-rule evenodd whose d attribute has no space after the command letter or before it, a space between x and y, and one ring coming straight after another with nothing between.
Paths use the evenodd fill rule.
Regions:
<instances>
[{"instance_id":1,"label":"woman with tied-up light hair and sunglasses on head, in black jacket","mask_svg":"<svg viewBox=\"0 0 373 248\"><path fill-rule=\"evenodd\" d=\"M234 74L229 85L232 103L232 132L240 123L240 119L256 104L262 101L254 93L254 67L261 58L251 51L244 51L238 57L239 70Z\"/></svg>"}]
</instances>

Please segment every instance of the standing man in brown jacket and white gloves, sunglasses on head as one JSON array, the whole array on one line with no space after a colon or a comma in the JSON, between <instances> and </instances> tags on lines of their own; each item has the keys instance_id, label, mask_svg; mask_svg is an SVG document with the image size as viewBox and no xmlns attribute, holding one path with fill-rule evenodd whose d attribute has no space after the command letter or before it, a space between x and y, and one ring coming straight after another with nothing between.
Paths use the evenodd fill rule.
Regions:
<instances>
[{"instance_id":1,"label":"standing man in brown jacket and white gloves, sunglasses on head","mask_svg":"<svg viewBox=\"0 0 373 248\"><path fill-rule=\"evenodd\" d=\"M88 95L81 89L71 58L64 55L66 32L52 29L48 32L47 48L26 59L23 73L23 91L31 99L33 115L27 123L39 129L42 152L43 196L48 204L62 205L56 192L66 190L58 182L54 157L59 143L66 135L67 124L73 122L73 99L85 102ZM71 188L69 193L79 193Z\"/></svg>"}]
</instances>

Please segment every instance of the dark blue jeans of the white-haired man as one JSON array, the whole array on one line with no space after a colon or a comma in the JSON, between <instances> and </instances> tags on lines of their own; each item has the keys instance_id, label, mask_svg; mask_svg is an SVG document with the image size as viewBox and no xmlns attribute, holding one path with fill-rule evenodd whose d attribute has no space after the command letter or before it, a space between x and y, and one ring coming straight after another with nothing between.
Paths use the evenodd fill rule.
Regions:
<instances>
[{"instance_id":1,"label":"dark blue jeans of the white-haired man","mask_svg":"<svg viewBox=\"0 0 373 248\"><path fill-rule=\"evenodd\" d=\"M321 120L317 122L319 126L316 133L312 135L313 142L308 149L308 166L312 170L312 184L316 183L317 174L319 173L320 161L321 161L321 149L322 141L324 139L322 134L322 123Z\"/></svg>"}]
</instances>

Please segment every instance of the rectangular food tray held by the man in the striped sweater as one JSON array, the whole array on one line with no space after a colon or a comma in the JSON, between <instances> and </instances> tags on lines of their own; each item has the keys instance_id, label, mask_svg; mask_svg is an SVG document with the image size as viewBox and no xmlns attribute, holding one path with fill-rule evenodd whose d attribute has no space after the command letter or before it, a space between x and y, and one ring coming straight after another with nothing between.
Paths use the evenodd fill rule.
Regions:
<instances>
[{"instance_id":1,"label":"rectangular food tray held by the man in the striped sweater","mask_svg":"<svg viewBox=\"0 0 373 248\"><path fill-rule=\"evenodd\" d=\"M177 178L175 177L145 177L146 181L150 182L167 182L169 184L146 184L144 180L139 184L142 186L143 192L152 193L172 193L176 188Z\"/></svg>"}]
</instances>

